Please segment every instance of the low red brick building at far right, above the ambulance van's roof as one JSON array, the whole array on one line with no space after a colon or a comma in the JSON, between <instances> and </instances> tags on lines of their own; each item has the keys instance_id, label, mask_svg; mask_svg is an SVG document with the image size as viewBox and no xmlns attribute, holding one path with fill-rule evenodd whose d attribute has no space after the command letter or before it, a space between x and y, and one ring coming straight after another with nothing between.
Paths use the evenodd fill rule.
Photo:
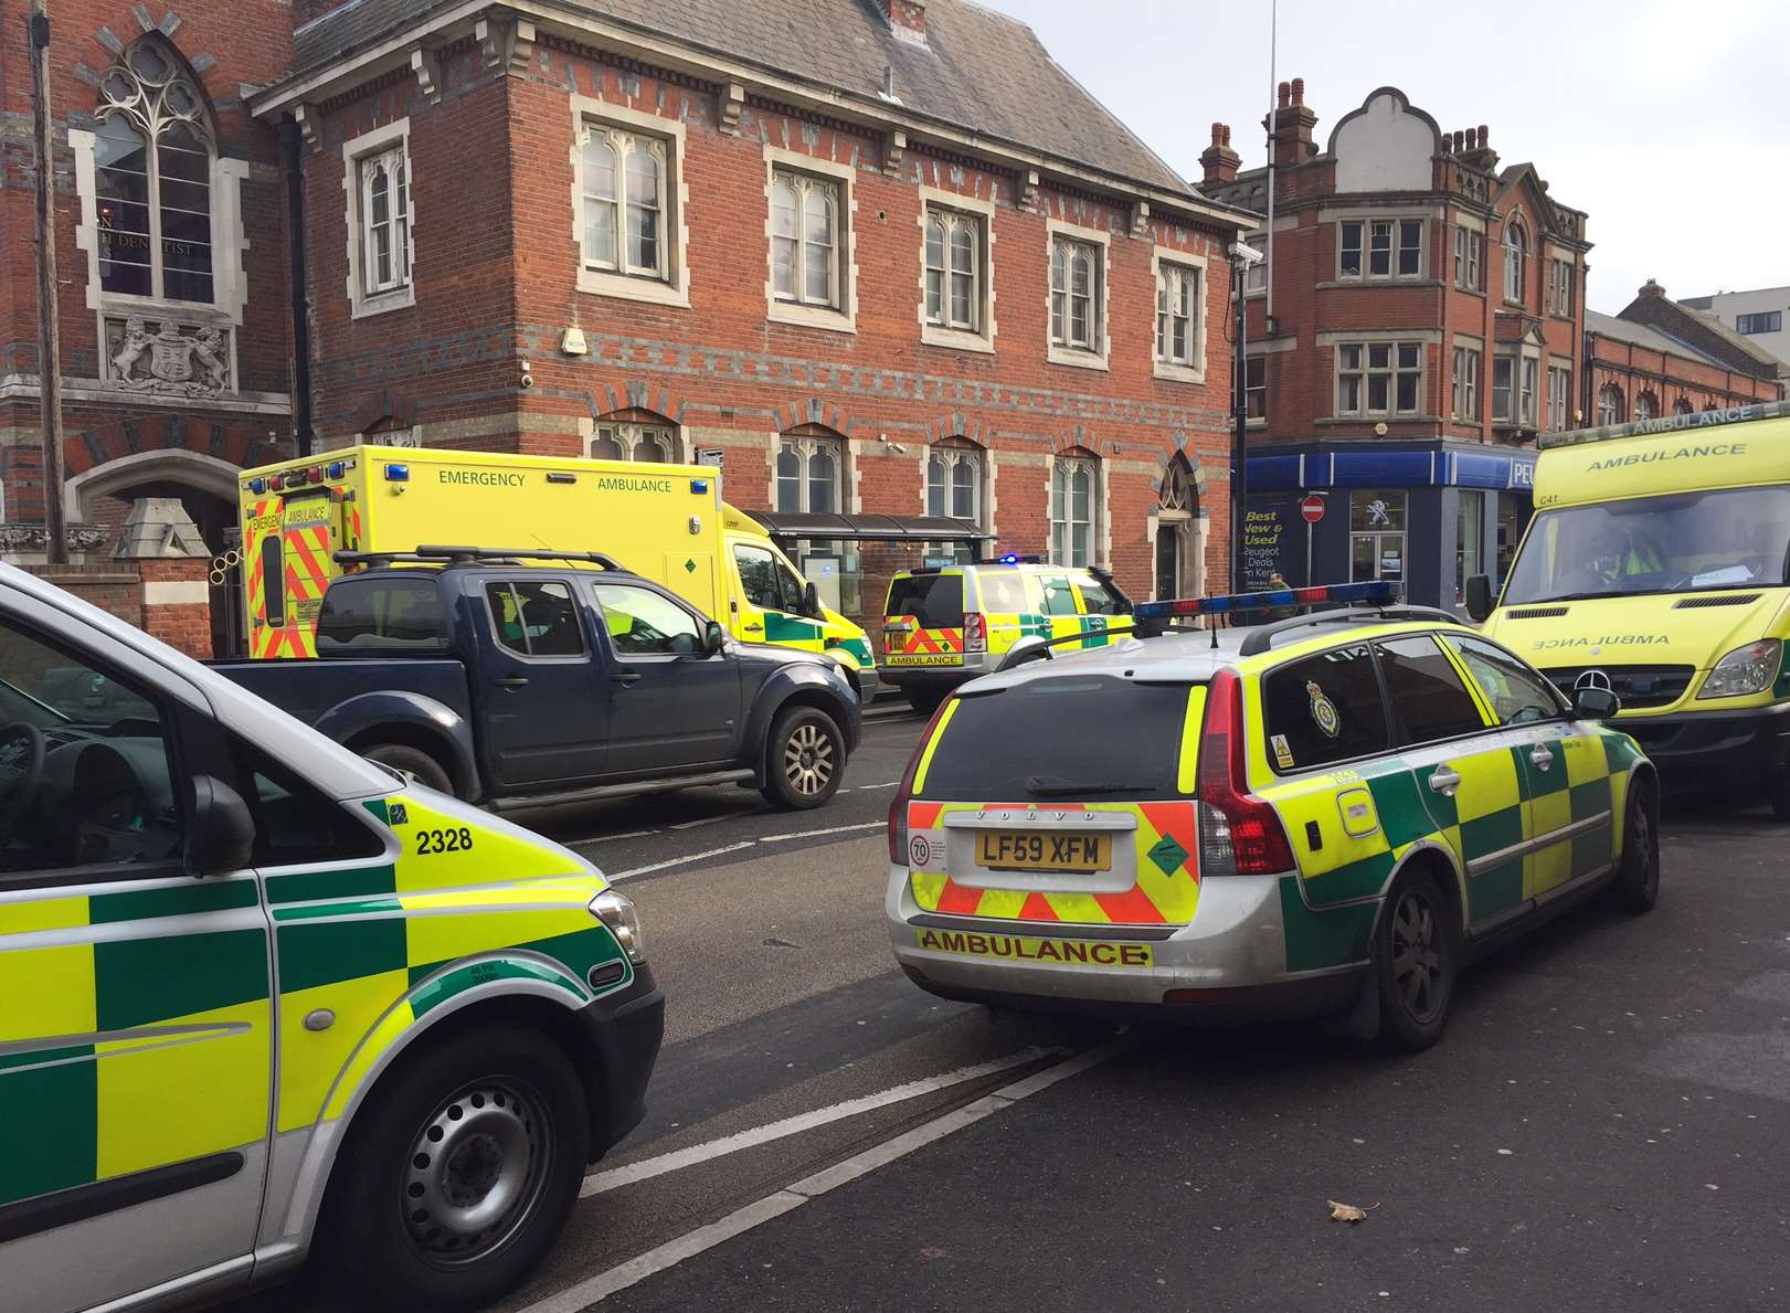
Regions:
<instances>
[{"instance_id":1,"label":"low red brick building at far right, above the ambulance van's roof","mask_svg":"<svg viewBox=\"0 0 1790 1313\"><path fill-rule=\"evenodd\" d=\"M1783 398L1779 360L1647 279L1622 313L1584 317L1586 423L1622 425Z\"/></svg>"}]
</instances>

